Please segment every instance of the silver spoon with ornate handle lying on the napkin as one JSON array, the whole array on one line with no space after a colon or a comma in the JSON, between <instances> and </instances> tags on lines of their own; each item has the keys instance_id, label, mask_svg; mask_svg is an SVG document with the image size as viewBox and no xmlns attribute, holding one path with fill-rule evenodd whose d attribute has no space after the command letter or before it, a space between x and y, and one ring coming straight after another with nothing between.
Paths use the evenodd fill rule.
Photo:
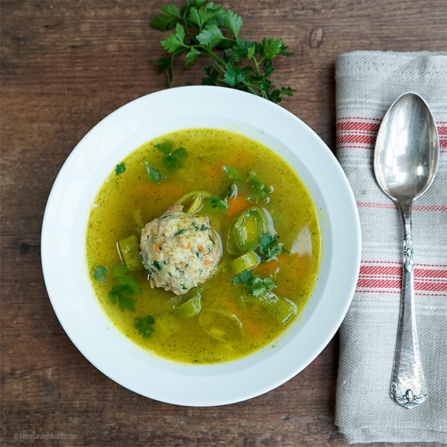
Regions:
<instances>
[{"instance_id":1,"label":"silver spoon with ornate handle lying on the napkin","mask_svg":"<svg viewBox=\"0 0 447 447\"><path fill-rule=\"evenodd\" d=\"M415 408L427 398L417 343L411 208L413 200L433 183L438 160L439 139L428 105L414 93L400 96L380 125L374 173L380 188L399 206L404 221L402 296L390 394L405 408Z\"/></svg>"}]
</instances>

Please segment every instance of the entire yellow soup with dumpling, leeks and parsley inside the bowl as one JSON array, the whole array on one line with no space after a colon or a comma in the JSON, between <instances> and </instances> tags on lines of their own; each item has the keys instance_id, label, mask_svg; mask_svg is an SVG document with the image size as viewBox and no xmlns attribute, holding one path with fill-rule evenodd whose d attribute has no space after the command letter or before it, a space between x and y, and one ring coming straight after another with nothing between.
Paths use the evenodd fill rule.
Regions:
<instances>
[{"instance_id":1,"label":"entire yellow soup with dumpling, leeks and parsley inside the bowl","mask_svg":"<svg viewBox=\"0 0 447 447\"><path fill-rule=\"evenodd\" d=\"M228 362L267 346L312 293L320 231L290 166L243 135L186 129L135 149L91 206L101 307L156 356Z\"/></svg>"}]
</instances>

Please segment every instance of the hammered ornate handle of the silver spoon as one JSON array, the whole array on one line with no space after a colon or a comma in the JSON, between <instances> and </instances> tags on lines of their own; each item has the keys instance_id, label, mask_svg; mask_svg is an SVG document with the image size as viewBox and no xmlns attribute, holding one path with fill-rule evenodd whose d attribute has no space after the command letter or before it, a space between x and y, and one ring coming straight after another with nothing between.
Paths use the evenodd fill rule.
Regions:
<instances>
[{"instance_id":1,"label":"hammered ornate handle of the silver spoon","mask_svg":"<svg viewBox=\"0 0 447 447\"><path fill-rule=\"evenodd\" d=\"M415 318L415 287L411 206L400 204L404 221L404 264L402 265L402 296L395 348L391 398L405 408L415 408L427 398L422 371Z\"/></svg>"}]
</instances>

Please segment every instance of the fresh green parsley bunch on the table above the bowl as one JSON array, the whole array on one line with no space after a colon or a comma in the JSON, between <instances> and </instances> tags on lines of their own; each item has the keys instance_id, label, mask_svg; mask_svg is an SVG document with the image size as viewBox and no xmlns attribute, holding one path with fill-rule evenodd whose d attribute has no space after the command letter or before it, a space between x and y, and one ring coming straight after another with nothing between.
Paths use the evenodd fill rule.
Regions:
<instances>
[{"instance_id":1,"label":"fresh green parsley bunch on the table above the bowl","mask_svg":"<svg viewBox=\"0 0 447 447\"><path fill-rule=\"evenodd\" d=\"M168 73L168 85L173 81L173 59L185 56L190 67L199 56L208 56L211 64L204 67L203 85L228 85L248 91L273 102L283 96L292 96L292 87L276 88L270 76L274 72L272 61L276 56L292 56L281 39L264 38L261 42L239 38L242 18L223 5L208 0L188 1L179 10L177 6L162 6L164 14L151 21L156 30L173 30L161 41L168 56L157 61L158 72Z\"/></svg>"}]
</instances>

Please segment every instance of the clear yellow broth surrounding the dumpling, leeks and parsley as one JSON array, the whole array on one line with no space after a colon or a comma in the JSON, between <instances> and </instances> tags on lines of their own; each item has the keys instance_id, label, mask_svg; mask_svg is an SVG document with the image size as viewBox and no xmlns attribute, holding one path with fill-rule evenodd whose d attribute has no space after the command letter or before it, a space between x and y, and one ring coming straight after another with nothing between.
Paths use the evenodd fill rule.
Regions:
<instances>
[{"instance_id":1,"label":"clear yellow broth surrounding the dumpling, leeks and parsley","mask_svg":"<svg viewBox=\"0 0 447 447\"><path fill-rule=\"evenodd\" d=\"M182 160L182 168L168 169L164 164L166 155L155 149L155 144L166 140L173 142L173 149L181 146L186 149L188 156ZM160 184L147 178L143 162L165 176ZM296 303L299 315L317 279L321 244L316 208L292 168L263 144L218 129L186 129L162 135L135 149L123 163L125 171L119 175L112 171L102 184L91 206L86 237L91 284L113 325L149 353L186 364L229 362L248 356L281 336L294 320L281 325L268 310L244 293L243 285L232 283L235 274L228 268L228 261L237 254L228 252L226 236L232 221L244 208L257 205L268 211L276 236L288 254L261 263L252 272L263 277L272 276L276 283L273 292ZM140 211L142 220L147 223L193 190L205 190L224 199L233 180L222 166L237 168L242 178L254 171L273 189L268 199L253 204L244 202L250 191L244 190L241 182L239 202L232 206L229 200L228 212L211 206L204 206L198 212L208 217L223 245L217 271L206 287L201 288L201 307L237 316L241 322L241 340L217 340L201 329L197 315L180 316L175 310L179 298L160 288L151 289L144 270L131 272L142 290L141 294L133 296L135 312L120 310L109 297L113 286L110 269L121 263L117 242L132 234L139 238L135 210ZM98 265L109 270L103 283L93 279ZM193 291L188 292L188 296ZM135 318L148 315L153 316L155 323L151 335L144 338L135 328Z\"/></svg>"}]
</instances>

